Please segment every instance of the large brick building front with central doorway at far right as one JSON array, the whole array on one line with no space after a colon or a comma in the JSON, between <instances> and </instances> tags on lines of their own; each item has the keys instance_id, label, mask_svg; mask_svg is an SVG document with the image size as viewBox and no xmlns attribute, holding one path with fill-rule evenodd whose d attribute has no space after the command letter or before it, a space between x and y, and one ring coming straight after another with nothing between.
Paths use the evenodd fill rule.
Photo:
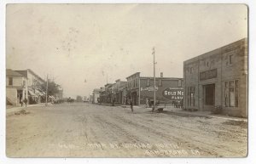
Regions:
<instances>
[{"instance_id":1,"label":"large brick building front with central doorway at far right","mask_svg":"<svg viewBox=\"0 0 256 164\"><path fill-rule=\"evenodd\" d=\"M247 116L247 38L183 63L184 109Z\"/></svg>"}]
</instances>

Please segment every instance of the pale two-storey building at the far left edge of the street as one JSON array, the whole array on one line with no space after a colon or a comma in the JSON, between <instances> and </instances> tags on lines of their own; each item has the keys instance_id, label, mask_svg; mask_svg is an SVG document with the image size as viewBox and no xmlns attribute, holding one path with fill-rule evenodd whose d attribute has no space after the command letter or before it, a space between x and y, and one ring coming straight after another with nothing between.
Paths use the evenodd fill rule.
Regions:
<instances>
[{"instance_id":1,"label":"pale two-storey building at the far left edge of the street","mask_svg":"<svg viewBox=\"0 0 256 164\"><path fill-rule=\"evenodd\" d=\"M27 99L27 78L17 71L6 70L6 103L19 105L21 99Z\"/></svg>"}]
</instances>

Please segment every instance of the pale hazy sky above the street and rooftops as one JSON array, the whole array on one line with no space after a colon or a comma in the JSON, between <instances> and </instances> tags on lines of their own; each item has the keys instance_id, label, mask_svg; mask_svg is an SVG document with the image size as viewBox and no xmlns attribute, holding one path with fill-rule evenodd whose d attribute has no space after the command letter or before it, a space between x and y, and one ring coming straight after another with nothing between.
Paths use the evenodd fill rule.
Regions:
<instances>
[{"instance_id":1,"label":"pale hazy sky above the street and rooftops","mask_svg":"<svg viewBox=\"0 0 256 164\"><path fill-rule=\"evenodd\" d=\"M183 77L183 61L247 37L243 4L8 4L6 68L31 69L66 97L141 72Z\"/></svg>"}]
</instances>

